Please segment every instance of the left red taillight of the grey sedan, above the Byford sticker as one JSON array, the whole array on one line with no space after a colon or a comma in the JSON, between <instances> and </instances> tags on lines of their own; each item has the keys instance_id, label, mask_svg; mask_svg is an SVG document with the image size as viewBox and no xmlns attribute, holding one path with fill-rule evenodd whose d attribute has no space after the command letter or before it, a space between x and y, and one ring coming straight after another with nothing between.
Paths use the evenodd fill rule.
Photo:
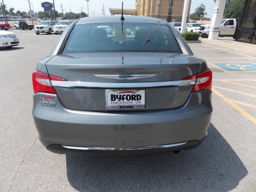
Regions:
<instances>
[{"instance_id":1,"label":"left red taillight of the grey sedan, above the Byford sticker","mask_svg":"<svg viewBox=\"0 0 256 192\"><path fill-rule=\"evenodd\" d=\"M33 91L34 93L44 92L44 93L52 93L56 94L54 87L51 84L50 80L54 81L66 81L66 79L55 77L52 75L48 75L46 73L42 73L39 71L35 71L32 74L32 82L33 82Z\"/></svg>"}]
</instances>

